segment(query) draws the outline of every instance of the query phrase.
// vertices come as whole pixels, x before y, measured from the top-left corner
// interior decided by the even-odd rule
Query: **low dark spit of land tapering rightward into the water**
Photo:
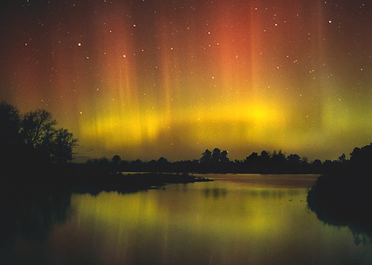
[[[88,166],[53,166],[29,168],[4,174],[1,193],[61,192],[97,194],[101,191],[135,192],[157,189],[166,184],[187,184],[212,181],[205,177],[181,173],[132,173],[95,171]]]

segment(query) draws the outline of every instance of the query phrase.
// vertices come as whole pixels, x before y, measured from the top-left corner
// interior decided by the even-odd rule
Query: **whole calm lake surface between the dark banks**
[[[359,243],[362,235],[326,225],[307,209],[306,188],[317,176],[207,177],[214,182],[130,194],[72,194],[55,205],[57,210],[49,209],[48,218],[41,213],[30,220],[48,219],[47,229],[38,226],[29,236],[18,228],[20,236],[9,240],[2,259],[14,264],[372,264],[370,238]]]

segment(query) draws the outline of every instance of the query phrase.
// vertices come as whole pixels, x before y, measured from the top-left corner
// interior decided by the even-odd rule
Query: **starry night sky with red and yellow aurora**
[[[76,157],[336,159],[372,141],[372,3],[0,4],[0,100],[44,108]]]

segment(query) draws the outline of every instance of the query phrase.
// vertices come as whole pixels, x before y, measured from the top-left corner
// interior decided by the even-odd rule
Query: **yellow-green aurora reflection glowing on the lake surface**
[[[76,194],[71,198],[76,217],[69,226],[81,229],[55,233],[73,233],[85,245],[81,251],[93,247],[105,264],[347,264],[368,259],[371,252],[355,249],[347,229],[317,222],[306,210],[305,195],[305,189],[221,188],[218,182],[128,195]]]

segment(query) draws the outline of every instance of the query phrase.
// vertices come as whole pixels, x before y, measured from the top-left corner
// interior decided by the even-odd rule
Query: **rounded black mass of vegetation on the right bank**
[[[308,207],[318,219],[372,237],[371,158],[372,144],[356,147],[339,170],[317,179],[308,191]]]

